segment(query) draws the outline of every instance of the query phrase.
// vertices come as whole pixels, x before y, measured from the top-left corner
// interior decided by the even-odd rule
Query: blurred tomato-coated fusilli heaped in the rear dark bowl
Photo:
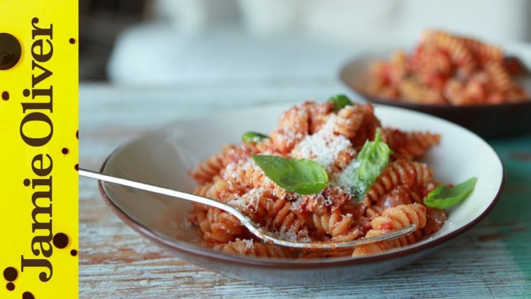
[[[366,91],[388,99],[432,105],[480,105],[529,99],[511,78],[501,48],[426,31],[412,54],[395,51],[374,61]]]

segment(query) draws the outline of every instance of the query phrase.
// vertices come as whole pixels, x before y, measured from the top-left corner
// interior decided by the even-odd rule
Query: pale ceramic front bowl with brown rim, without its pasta
[[[287,104],[253,106],[175,122],[119,147],[101,171],[191,191],[196,184],[187,176],[189,168],[217,152],[221,145],[239,142],[242,132],[269,132],[287,108]],[[400,108],[377,106],[375,113],[385,126],[442,133],[441,144],[424,157],[435,169],[438,180],[456,183],[478,177],[471,196],[450,211],[441,230],[414,245],[358,258],[235,256],[196,245],[201,235],[197,227],[186,221],[191,204],[185,200],[100,182],[101,194],[110,208],[140,235],[180,258],[228,277],[261,284],[317,286],[378,275],[412,263],[477,224],[500,196],[504,171],[497,154],[485,141],[456,124]]]

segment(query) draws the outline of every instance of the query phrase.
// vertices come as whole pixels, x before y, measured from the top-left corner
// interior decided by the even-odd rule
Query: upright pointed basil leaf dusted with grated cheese
[[[374,141],[367,141],[363,148],[356,156],[358,168],[354,170],[354,194],[361,200],[365,197],[365,194],[370,190],[372,184],[384,171],[389,163],[389,156],[392,151],[381,141],[380,129],[377,129]]]

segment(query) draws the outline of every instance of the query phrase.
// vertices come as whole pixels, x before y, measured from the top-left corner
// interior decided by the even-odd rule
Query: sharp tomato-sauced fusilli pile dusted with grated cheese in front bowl
[[[403,55],[394,59],[395,64],[407,63]],[[374,139],[377,129],[394,154],[365,198],[356,198],[349,187],[356,156],[365,142]],[[284,112],[269,138],[227,145],[189,175],[198,182],[194,194],[231,205],[286,240],[343,242],[417,225],[418,229],[404,238],[354,250],[355,256],[371,254],[417,242],[444,224],[444,212],[426,210],[423,205],[423,197],[436,184],[433,170],[416,161],[439,139],[430,132],[381,128],[372,105],[353,103],[335,110],[335,103],[305,102]],[[254,162],[253,154],[310,159],[325,168],[328,186],[309,195],[288,191],[270,180]],[[353,254],[353,249],[295,250],[265,244],[228,212],[201,204],[193,207],[189,221],[198,227],[201,245],[228,254],[268,258]]]

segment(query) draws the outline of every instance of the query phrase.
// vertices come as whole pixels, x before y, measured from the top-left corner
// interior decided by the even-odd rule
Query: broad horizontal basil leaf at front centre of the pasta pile
[[[328,184],[323,166],[309,159],[286,159],[282,156],[253,156],[263,173],[280,187],[297,194],[317,194]]]

